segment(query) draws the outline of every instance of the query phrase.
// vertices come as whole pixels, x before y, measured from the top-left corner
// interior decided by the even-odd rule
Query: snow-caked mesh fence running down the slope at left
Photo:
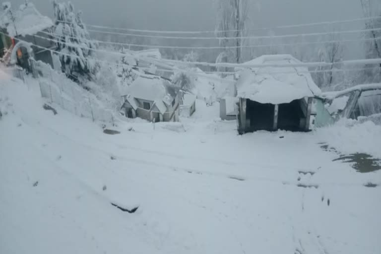
[[[114,123],[113,112],[105,109],[94,94],[68,79],[64,73],[41,61],[31,60],[31,66],[33,76],[39,78],[42,97],[77,116]]]

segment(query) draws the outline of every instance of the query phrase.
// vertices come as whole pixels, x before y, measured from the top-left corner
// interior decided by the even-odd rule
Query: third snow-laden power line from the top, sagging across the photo
[[[76,37],[71,36],[62,36],[56,35],[53,33],[48,33],[42,31],[42,33],[56,37],[56,38],[71,38],[77,39]],[[45,38],[45,37],[44,37]],[[148,49],[184,49],[184,50],[225,50],[225,49],[254,49],[254,48],[266,48],[266,47],[286,47],[286,46],[296,46],[296,45],[315,45],[315,44],[326,44],[326,43],[343,43],[343,42],[362,42],[362,41],[373,41],[375,39],[381,39],[381,37],[376,38],[359,38],[359,39],[347,39],[347,40],[327,40],[327,41],[318,41],[318,42],[296,42],[296,43],[281,43],[281,44],[257,44],[257,45],[240,45],[240,46],[163,46],[163,45],[146,45],[146,44],[133,44],[133,43],[121,43],[121,42],[107,42],[101,40],[88,40],[97,42],[100,44],[109,44],[109,45],[119,45],[119,46],[127,46],[127,47],[136,47],[136,48],[148,48]]]

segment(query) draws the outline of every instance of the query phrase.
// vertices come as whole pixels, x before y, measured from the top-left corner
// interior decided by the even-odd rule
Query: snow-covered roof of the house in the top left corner
[[[11,37],[16,36],[16,31],[17,35],[25,36],[27,34],[36,34],[53,26],[53,21],[49,17],[41,15],[31,2],[21,4],[20,8],[13,13],[13,17],[15,19],[14,23],[5,11],[2,13],[0,20],[0,26],[6,28]]]

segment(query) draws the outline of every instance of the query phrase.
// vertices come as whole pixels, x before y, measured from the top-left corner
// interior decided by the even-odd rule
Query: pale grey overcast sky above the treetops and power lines
[[[23,1],[11,0],[15,4]],[[30,1],[35,3],[42,14],[53,16],[51,0]],[[213,30],[215,26],[214,0],[71,0],[71,2],[77,10],[83,11],[83,20],[88,24],[185,31]],[[251,27],[274,27],[363,16],[360,0],[249,0],[249,4]],[[359,21],[347,24],[342,29],[362,27],[364,24]],[[310,27],[308,32],[319,29],[322,27]],[[284,33],[292,32],[295,31]],[[348,46],[353,48],[353,45]],[[359,49],[349,50],[349,58],[354,57],[356,51],[359,52]]]

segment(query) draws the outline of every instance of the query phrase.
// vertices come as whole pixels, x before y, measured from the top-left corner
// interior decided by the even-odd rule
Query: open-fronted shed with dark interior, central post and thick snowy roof
[[[313,98],[321,91],[307,67],[290,55],[261,56],[244,65],[253,67],[237,69],[239,133],[308,131]]]

